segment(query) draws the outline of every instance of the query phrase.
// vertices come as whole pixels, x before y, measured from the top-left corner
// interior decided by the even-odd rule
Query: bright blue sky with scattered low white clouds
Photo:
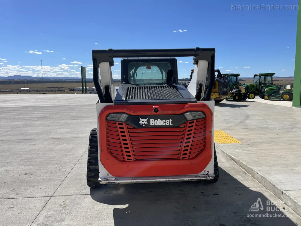
[[[44,76],[80,77],[85,66],[92,77],[92,49],[194,47],[216,48],[222,72],[293,76],[297,10],[231,10],[231,4],[298,1],[1,1],[0,76],[41,76],[42,59]],[[120,59],[114,61],[118,78]],[[178,61],[179,77],[189,77],[192,58]]]

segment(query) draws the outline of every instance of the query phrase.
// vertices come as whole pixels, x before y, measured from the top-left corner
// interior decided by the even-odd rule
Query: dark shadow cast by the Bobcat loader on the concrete
[[[121,184],[91,189],[90,195],[96,202],[116,205],[113,209],[115,226],[296,225],[287,217],[248,217],[247,214],[283,215],[283,212],[279,209],[278,212],[267,212],[266,203],[269,199],[260,192],[262,187],[252,190],[222,168],[219,168],[219,172],[220,178],[216,184]],[[251,205],[258,202],[258,198],[261,199],[263,210],[250,212]]]

